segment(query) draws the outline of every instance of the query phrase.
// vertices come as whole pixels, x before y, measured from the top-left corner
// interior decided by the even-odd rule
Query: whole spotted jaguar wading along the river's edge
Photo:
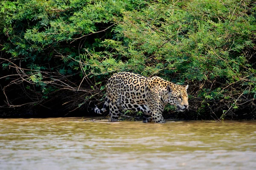
[[[102,114],[109,110],[109,122],[118,121],[122,110],[142,111],[143,122],[165,123],[162,116],[166,104],[177,106],[177,111],[189,107],[186,90],[160,77],[144,77],[139,74],[122,72],[114,74],[107,82],[105,104],[100,110],[95,106],[95,113]]]

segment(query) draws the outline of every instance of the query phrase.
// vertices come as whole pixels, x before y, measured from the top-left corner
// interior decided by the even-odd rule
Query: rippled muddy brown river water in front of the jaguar
[[[255,169],[256,121],[0,119],[0,169]]]

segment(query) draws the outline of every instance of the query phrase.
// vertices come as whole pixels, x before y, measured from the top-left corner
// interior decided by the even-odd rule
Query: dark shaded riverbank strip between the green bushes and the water
[[[73,112],[61,111],[61,109],[48,109],[41,107],[17,107],[17,108],[1,108],[0,109],[0,118],[54,118],[54,117],[92,117],[97,118],[100,116],[105,116],[107,119],[108,113],[105,115],[97,115],[92,111],[88,111],[88,108],[84,110],[77,110]],[[167,120],[213,120],[213,121],[222,121],[222,120],[254,120],[256,119],[256,113],[244,113],[239,116],[230,116],[225,115],[221,117],[221,114],[197,114],[193,111],[186,112],[175,112],[175,111],[164,111],[163,117]],[[121,120],[125,121],[142,121],[143,115],[137,114],[136,112],[125,113],[124,116],[120,116]]]

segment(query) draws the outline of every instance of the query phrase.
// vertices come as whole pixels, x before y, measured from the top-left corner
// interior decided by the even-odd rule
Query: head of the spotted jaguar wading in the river
[[[171,105],[177,106],[177,111],[186,111],[189,108],[188,94],[186,90],[189,88],[189,85],[185,87],[182,85],[167,85],[168,91],[168,102]]]

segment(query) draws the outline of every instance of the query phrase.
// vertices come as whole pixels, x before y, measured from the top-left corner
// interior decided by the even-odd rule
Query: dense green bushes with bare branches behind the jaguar
[[[88,101],[102,101],[112,74],[133,71],[190,85],[190,111],[173,112],[177,117],[256,116],[254,0],[4,0],[0,6],[2,107],[86,110]]]

